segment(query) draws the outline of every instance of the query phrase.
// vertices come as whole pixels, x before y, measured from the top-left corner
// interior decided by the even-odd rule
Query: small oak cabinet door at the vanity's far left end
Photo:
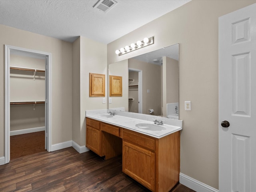
[[[101,156],[100,154],[100,130],[86,126],[86,147]]]

